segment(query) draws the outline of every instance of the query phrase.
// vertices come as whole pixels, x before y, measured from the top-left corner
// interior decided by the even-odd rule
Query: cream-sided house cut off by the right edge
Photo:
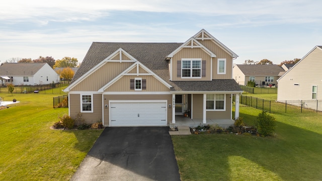
[[[277,101],[322,100],[322,46],[314,47],[278,81]]]

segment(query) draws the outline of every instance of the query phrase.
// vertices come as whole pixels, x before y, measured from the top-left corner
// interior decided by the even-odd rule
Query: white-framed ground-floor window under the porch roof
[[[207,110],[225,110],[225,95],[224,94],[207,94],[206,96]]]

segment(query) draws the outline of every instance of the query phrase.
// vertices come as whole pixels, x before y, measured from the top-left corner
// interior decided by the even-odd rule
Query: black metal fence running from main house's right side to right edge
[[[233,96],[235,101],[235,96]],[[314,113],[322,112],[322,100],[268,101],[250,96],[239,97],[239,104],[269,113]]]

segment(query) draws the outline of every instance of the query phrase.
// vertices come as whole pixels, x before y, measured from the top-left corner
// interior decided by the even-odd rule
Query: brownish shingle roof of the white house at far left
[[[4,63],[0,66],[0,75],[32,76],[46,63]]]

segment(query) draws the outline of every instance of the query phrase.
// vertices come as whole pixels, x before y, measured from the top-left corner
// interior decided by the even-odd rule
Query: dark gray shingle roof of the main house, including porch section
[[[241,91],[233,79],[213,81],[170,81],[167,55],[182,43],[104,43],[93,42],[72,82],[122,48],[173,86],[171,91]]]

